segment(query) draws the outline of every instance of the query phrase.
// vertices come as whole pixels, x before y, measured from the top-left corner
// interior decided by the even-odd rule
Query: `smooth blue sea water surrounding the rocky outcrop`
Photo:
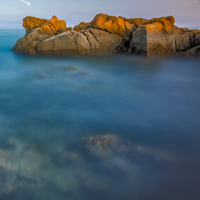
[[[200,199],[199,59],[19,55],[23,35],[0,30],[0,200]]]

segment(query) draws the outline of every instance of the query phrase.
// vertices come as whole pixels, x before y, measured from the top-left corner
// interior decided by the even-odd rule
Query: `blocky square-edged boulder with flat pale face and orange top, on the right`
[[[176,53],[173,17],[147,20],[133,32],[130,52],[147,56]]]

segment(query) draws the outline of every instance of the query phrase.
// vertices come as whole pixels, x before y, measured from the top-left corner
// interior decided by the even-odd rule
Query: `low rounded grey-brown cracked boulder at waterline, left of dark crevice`
[[[107,55],[116,53],[122,38],[102,30],[74,30],[44,40],[37,46],[43,55]]]

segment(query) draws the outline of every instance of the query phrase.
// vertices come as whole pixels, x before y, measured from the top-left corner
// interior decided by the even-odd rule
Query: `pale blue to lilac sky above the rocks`
[[[200,27],[199,10],[200,0],[0,0],[0,29],[21,29],[26,16],[53,15],[73,27],[98,13],[145,19],[172,15],[179,27]]]

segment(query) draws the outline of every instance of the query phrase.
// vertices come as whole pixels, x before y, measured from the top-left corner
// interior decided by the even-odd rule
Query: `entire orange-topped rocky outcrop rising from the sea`
[[[200,30],[178,28],[174,23],[172,16],[146,20],[98,14],[91,22],[81,22],[72,28],[56,16],[50,20],[26,17],[23,19],[26,35],[16,42],[13,50],[62,56],[199,55]]]

